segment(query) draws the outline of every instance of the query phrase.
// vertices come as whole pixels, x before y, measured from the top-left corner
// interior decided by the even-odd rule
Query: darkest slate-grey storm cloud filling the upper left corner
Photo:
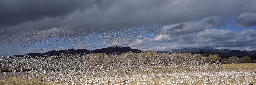
[[[84,0],[1,0],[0,25],[15,26],[43,17],[65,16],[81,7],[82,1]]]

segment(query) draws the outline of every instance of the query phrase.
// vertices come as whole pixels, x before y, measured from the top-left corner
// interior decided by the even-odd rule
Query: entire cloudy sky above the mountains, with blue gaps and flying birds
[[[0,56],[129,46],[256,50],[255,0],[1,0]]]

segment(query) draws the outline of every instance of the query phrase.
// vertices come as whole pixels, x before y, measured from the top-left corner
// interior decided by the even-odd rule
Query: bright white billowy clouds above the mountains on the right
[[[180,37],[180,40],[143,40],[143,44],[134,46],[135,49],[145,50],[171,50],[182,48],[212,47],[216,49],[239,49],[239,50],[256,50],[256,34],[244,34],[244,32],[255,30],[244,30],[242,32],[233,32],[230,30],[205,29],[197,33],[189,34],[190,36]],[[188,35],[188,34],[186,34]],[[250,36],[248,36],[250,35]],[[157,37],[155,37],[157,38]],[[155,39],[152,38],[152,39]],[[187,40],[189,38],[189,40]],[[160,38],[159,38],[160,39]],[[134,45],[136,42],[129,45]]]

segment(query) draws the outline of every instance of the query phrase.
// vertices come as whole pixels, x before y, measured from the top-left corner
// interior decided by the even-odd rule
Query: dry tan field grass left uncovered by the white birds
[[[241,66],[241,70],[240,71],[254,71],[256,70],[256,66],[252,66],[252,65],[256,65],[255,63],[253,64],[250,64],[250,63],[243,63],[243,64],[222,64],[223,67],[227,67],[227,70],[226,69],[222,69],[223,71],[236,71],[236,70],[239,70],[238,68]],[[251,67],[252,66],[252,67]],[[235,68],[234,68],[235,67]],[[162,67],[161,69],[165,69],[165,67]],[[170,72],[172,73],[172,72]],[[195,72],[196,73],[196,72]],[[1,73],[2,74],[2,73]],[[143,76],[143,75],[155,75],[155,74],[158,74],[158,75],[162,75],[162,73],[143,73],[143,74],[134,74],[134,75],[140,75],[140,76]],[[163,73],[163,74],[166,74],[166,73]],[[168,74],[168,73],[167,73]],[[9,77],[9,78],[2,78],[0,79],[0,84],[1,85],[53,85],[53,84],[65,84],[66,82],[62,82],[62,83],[50,83],[49,81],[41,81],[41,77],[44,77],[43,75],[41,76],[38,76],[38,77],[35,77],[33,78],[31,81],[29,81],[28,79],[24,79],[24,78],[21,78],[22,75],[20,75],[20,77]],[[199,79],[199,78],[195,78],[195,79]],[[218,79],[216,77],[216,79]],[[225,78],[226,80],[228,80],[228,78]],[[140,79],[141,81],[143,81],[143,78]],[[174,80],[174,79],[173,79]],[[168,81],[168,77],[163,80],[162,78],[154,78],[154,79],[150,79],[150,80],[147,80],[147,82],[155,82],[154,85],[162,85],[161,82],[167,82]],[[245,80],[240,80],[240,82],[242,83],[243,81]],[[122,84],[122,81],[115,81],[116,84]],[[159,83],[160,82],[160,83]],[[230,82],[230,84],[234,84],[236,82]],[[110,85],[110,83],[108,83]],[[136,82],[131,82],[129,83],[129,85],[135,85],[137,84]],[[151,84],[151,83],[150,83]],[[198,85],[198,84],[204,84],[203,81],[198,81],[196,83],[193,83],[192,85]],[[211,85],[211,83],[208,83],[209,85]],[[256,83],[252,83],[252,84],[256,84]]]

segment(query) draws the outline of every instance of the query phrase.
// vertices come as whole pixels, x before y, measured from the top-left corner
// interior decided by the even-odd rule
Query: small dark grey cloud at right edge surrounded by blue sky
[[[236,20],[237,27],[256,26],[256,13],[242,13]]]

